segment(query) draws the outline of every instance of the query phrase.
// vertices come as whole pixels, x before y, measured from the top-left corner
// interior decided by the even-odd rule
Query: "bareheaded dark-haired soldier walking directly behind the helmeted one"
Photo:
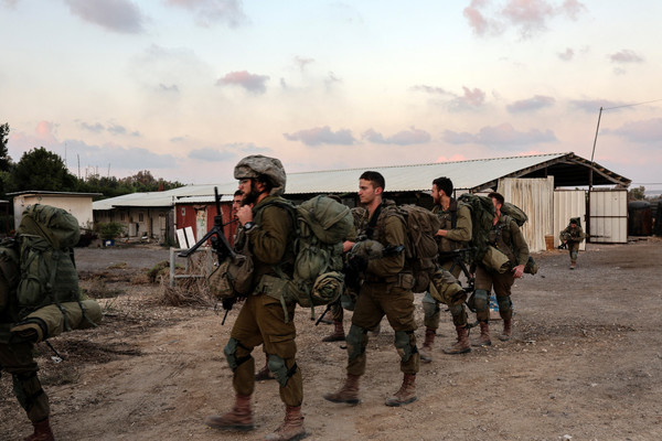
[[[414,277],[407,267],[404,252],[367,259],[365,255],[375,248],[404,246],[406,240],[405,224],[401,217],[389,215],[393,202],[382,200],[384,176],[378,172],[364,172],[359,180],[359,198],[367,209],[367,228],[364,233],[367,240],[357,244],[345,244],[352,247],[350,265],[363,272],[363,284],[352,315],[352,325],[346,336],[348,367],[344,385],[335,392],[325,394],[324,398],[332,402],[355,405],[359,399],[359,378],[365,374],[367,331],[374,329],[384,315],[395,331],[395,347],[401,356],[403,384],[394,396],[386,400],[386,406],[402,406],[416,400],[416,373],[418,373],[419,355],[416,348],[416,321],[414,320]],[[370,250],[362,254],[362,248]]]

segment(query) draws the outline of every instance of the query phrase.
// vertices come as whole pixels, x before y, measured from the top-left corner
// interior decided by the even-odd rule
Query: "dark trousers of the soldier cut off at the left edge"
[[[51,413],[49,397],[43,391],[36,373],[39,367],[29,342],[0,343],[0,370],[11,374],[13,391],[32,422],[39,422]]]

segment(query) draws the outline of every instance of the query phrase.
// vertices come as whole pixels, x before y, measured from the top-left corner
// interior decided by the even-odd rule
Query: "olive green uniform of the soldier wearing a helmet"
[[[282,201],[267,196],[253,207],[255,225],[243,229],[237,241],[246,240],[253,255],[255,290],[242,305],[224,353],[233,369],[233,387],[238,395],[249,396],[255,388],[255,361],[250,353],[264,344],[269,370],[280,385],[280,399],[297,407],[303,399],[301,370],[295,356],[297,334],[295,303],[287,305],[287,318],[278,300],[284,279],[292,276],[295,237],[293,218],[288,208],[273,204]],[[241,246],[241,245],[239,245]]]

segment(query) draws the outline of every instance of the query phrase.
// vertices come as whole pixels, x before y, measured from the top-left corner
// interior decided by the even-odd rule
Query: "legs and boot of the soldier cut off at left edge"
[[[35,338],[12,335],[10,343],[10,333],[7,326],[10,322],[11,320],[7,314],[0,313],[0,372],[4,370],[11,374],[14,394],[34,427],[34,433],[25,440],[54,440],[49,422],[51,413],[49,397],[42,389],[36,376],[39,367],[32,356],[34,348],[32,342]]]

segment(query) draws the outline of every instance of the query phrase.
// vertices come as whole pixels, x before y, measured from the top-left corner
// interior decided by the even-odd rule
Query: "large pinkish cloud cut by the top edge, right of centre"
[[[469,26],[479,36],[500,35],[509,26],[523,39],[547,31],[548,22],[556,17],[577,20],[586,7],[577,0],[553,3],[546,0],[508,0],[493,8],[487,0],[472,0],[463,10]]]

